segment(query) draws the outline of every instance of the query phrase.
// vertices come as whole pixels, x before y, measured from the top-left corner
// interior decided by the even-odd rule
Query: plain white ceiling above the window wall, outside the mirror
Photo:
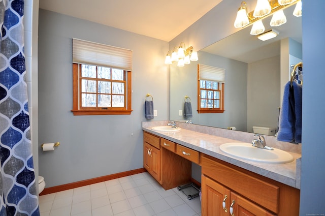
[[[40,0],[40,8],[171,41],[222,0]]]

